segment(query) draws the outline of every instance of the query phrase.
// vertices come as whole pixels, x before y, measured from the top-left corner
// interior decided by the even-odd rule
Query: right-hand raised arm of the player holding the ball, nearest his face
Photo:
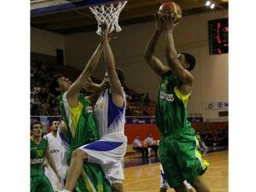
[[[192,89],[194,78],[192,74],[187,69],[185,69],[177,59],[177,51],[175,49],[172,35],[175,25],[170,22],[166,25],[166,60],[168,66],[171,67],[173,73],[177,74],[177,78],[180,81],[180,84],[178,84],[177,87],[178,90],[180,90],[183,94],[189,94]]]

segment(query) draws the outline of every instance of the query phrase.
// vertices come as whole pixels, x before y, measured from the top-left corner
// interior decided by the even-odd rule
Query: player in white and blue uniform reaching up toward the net
[[[108,84],[108,86],[100,93],[94,108],[96,126],[101,138],[73,151],[65,189],[73,189],[74,183],[81,174],[81,165],[85,161],[100,164],[105,176],[112,184],[113,192],[123,192],[122,158],[127,147],[127,137],[124,133],[126,102],[125,92],[122,88],[124,73],[115,67],[113,52],[109,45],[108,30],[107,26],[102,34],[104,62],[107,67],[102,84]],[[99,85],[92,82],[87,84],[88,90],[97,87]]]

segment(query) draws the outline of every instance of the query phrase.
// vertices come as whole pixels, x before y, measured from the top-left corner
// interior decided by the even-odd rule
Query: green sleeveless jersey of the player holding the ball
[[[177,76],[171,71],[164,74],[160,81],[155,120],[162,136],[170,136],[191,127],[186,103],[182,96],[177,96],[177,82]]]

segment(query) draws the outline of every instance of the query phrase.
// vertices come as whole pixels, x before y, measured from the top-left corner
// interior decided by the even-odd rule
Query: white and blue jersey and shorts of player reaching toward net
[[[125,92],[124,102],[125,102]],[[110,183],[122,183],[125,179],[122,160],[126,153],[125,106],[113,104],[111,90],[103,90],[96,102],[94,116],[101,139],[80,147],[88,155],[88,162],[102,166]]]

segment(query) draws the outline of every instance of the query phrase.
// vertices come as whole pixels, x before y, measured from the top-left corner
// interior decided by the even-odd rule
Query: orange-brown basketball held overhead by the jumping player
[[[179,5],[174,2],[167,2],[161,4],[158,12],[161,14],[173,14],[172,20],[174,23],[177,23],[182,18],[182,9],[180,9]]]

